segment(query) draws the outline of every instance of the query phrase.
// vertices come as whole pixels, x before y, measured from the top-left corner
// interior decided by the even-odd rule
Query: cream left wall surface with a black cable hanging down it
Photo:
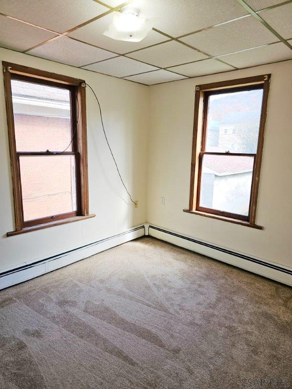
[[[105,143],[97,103],[87,88],[89,211],[96,217],[27,234],[14,230],[10,157],[0,80],[0,271],[115,235],[146,221],[149,88],[130,81],[0,49],[0,60],[86,80],[99,98],[105,130],[138,208],[130,204]],[[130,205],[126,204],[127,201]]]

